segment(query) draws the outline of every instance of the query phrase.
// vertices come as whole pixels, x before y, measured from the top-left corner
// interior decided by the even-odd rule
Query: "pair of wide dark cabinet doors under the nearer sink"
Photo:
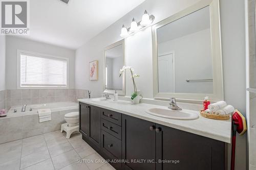
[[[124,169],[225,169],[224,142],[127,115],[122,128]]]

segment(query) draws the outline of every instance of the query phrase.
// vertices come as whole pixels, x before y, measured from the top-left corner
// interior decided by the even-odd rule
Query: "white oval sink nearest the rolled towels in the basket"
[[[158,116],[158,117],[164,117],[164,118],[170,118],[170,119],[179,119],[179,120],[193,120],[199,118],[198,114],[195,111],[190,110],[172,110],[172,109],[164,109],[164,108],[152,108],[146,110],[146,113]]]

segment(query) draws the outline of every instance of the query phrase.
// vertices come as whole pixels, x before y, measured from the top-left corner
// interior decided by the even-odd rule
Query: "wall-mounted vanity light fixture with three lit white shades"
[[[143,28],[150,26],[153,23],[154,19],[155,16],[148,15],[147,11],[145,10],[141,21],[136,22],[136,20],[133,18],[130,28],[125,28],[124,25],[122,26],[120,36],[125,38],[132,34],[135,34],[139,30],[142,30]]]

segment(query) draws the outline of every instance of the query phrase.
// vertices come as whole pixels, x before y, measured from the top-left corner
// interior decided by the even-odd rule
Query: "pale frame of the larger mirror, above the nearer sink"
[[[207,6],[209,6],[209,9],[210,9],[211,57],[212,57],[212,69],[213,69],[212,78],[214,79],[213,81],[214,93],[204,94],[204,93],[161,93],[159,92],[157,29]],[[154,86],[153,91],[154,91],[155,99],[176,98],[182,101],[203,101],[205,96],[209,96],[209,99],[211,101],[224,100],[219,0],[202,0],[195,5],[156,23],[154,26],[152,26],[152,45],[153,45],[152,48],[153,48],[153,86]]]

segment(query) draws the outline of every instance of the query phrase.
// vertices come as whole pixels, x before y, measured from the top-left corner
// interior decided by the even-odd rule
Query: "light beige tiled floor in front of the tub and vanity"
[[[80,134],[70,139],[65,135],[55,131],[0,144],[0,169],[115,170]],[[96,163],[99,160],[100,163]]]

